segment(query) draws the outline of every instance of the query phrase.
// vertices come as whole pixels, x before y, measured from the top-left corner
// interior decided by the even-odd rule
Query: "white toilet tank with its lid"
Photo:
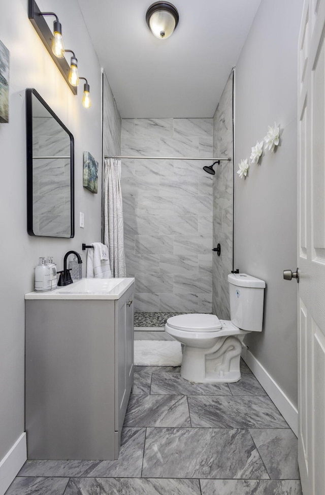
[[[264,280],[246,273],[228,275],[230,318],[242,330],[262,332],[264,308]]]

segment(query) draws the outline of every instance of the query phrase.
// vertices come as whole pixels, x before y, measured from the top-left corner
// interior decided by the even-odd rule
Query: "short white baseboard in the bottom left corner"
[[[4,495],[27,459],[26,434],[22,433],[0,460],[0,495]]]

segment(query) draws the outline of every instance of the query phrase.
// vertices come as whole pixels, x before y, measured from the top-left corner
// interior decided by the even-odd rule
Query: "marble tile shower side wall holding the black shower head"
[[[213,117],[213,156],[231,157],[215,167],[213,181],[213,245],[221,245],[221,255],[213,254],[212,311],[230,319],[227,276],[233,269],[233,74],[230,75]]]

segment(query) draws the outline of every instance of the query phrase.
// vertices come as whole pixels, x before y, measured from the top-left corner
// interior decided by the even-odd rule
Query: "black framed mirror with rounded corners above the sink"
[[[26,89],[27,232],[74,237],[74,138],[38,94]]]

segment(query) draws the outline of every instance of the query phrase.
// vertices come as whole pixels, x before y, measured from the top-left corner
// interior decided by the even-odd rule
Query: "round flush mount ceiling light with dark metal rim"
[[[178,24],[176,7],[169,2],[155,2],[146,13],[146,22],[151,33],[160,40],[169,38]]]

